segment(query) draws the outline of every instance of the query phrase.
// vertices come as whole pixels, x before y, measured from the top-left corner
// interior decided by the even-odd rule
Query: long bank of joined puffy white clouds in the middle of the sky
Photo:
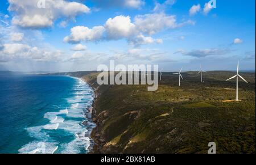
[[[81,41],[119,40],[126,39],[133,45],[163,43],[161,39],[153,39],[151,35],[168,28],[179,28],[186,24],[195,24],[191,20],[177,23],[174,15],[146,14],[135,17],[134,22],[130,16],[115,16],[109,18],[104,26],[88,28],[84,26],[73,27],[71,35],[64,37],[68,43]],[[146,36],[149,35],[149,36]]]

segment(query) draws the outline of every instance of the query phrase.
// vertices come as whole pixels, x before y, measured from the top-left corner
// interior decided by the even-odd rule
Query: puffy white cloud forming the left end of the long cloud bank
[[[105,28],[96,26],[92,29],[84,26],[76,26],[71,29],[71,35],[64,38],[65,42],[79,43],[80,41],[98,41],[102,39]]]

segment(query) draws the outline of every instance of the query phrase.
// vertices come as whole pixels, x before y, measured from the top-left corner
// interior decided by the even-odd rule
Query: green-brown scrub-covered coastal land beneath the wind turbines
[[[80,75],[82,77],[83,74]],[[241,73],[249,84],[226,82],[234,73],[210,71],[200,75],[163,73],[157,91],[145,85],[103,85],[97,73],[83,78],[97,88],[93,138],[95,153],[255,153],[255,73]]]

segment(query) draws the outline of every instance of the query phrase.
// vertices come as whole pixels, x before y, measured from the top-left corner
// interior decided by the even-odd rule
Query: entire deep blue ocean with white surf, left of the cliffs
[[[57,75],[0,75],[0,153],[88,153],[93,90]]]

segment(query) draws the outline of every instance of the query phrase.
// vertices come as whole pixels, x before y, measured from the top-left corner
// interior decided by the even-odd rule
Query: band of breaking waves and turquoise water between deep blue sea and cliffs
[[[86,109],[92,106],[93,90],[82,79],[74,79],[72,94],[63,98],[67,107],[60,109],[63,105],[56,103],[52,112],[44,114],[43,124],[26,128],[34,140],[22,146],[19,153],[88,153],[95,125]]]

